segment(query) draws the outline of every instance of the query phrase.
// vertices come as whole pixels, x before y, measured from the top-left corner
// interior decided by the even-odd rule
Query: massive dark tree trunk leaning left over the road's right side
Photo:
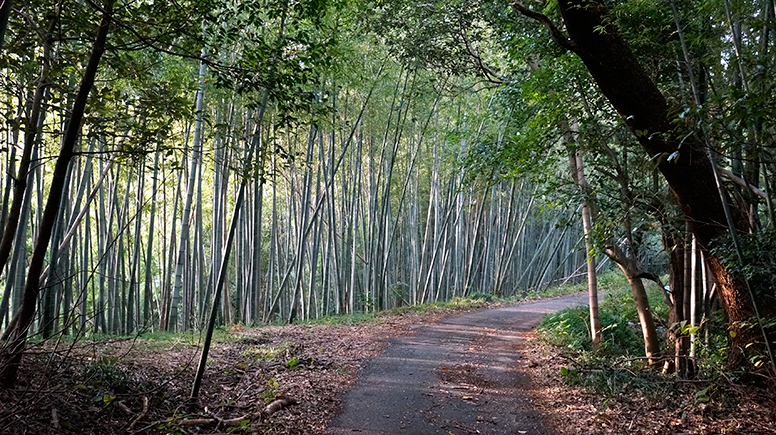
[[[717,190],[714,170],[704,145],[687,131],[677,131],[671,109],[655,83],[641,68],[612,24],[606,7],[598,1],[559,0],[566,38],[546,17],[520,4],[523,14],[538,19],[548,27],[553,38],[584,62],[601,92],[624,118],[648,157],[658,163],[677,203],[682,208],[693,234],[704,252],[711,241],[727,233],[722,200]],[[733,220],[739,230],[747,228],[740,210],[734,209]],[[741,324],[755,316],[752,299],[745,282],[728,272],[719,258],[708,256],[711,272],[728,316],[730,337],[729,364],[738,365],[741,350],[747,343],[762,339],[760,331]],[[763,307],[774,314],[776,307]]]

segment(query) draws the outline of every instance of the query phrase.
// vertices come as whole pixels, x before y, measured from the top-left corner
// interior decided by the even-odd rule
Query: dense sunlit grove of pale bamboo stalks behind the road
[[[81,13],[93,12],[86,5]],[[280,32],[284,19],[263,30]],[[36,58],[44,65],[78,54],[68,40],[50,44],[52,53]],[[131,57],[111,60],[129,71],[105,64],[92,90],[41,274],[35,333],[200,328],[225,249],[232,258],[222,324],[512,295],[579,276],[581,229],[568,224],[577,207],[542,211],[530,181],[467,181],[468,142],[504,130],[486,116],[493,93],[451,92],[447,85],[460,79],[403,67],[360,44],[345,47],[349,69],[315,71],[321,77],[307,97],[317,100],[304,109],[278,102],[282,94],[266,87],[277,83],[259,91],[224,85],[234,74],[224,66],[234,64],[228,53],[213,62],[217,71],[152,50],[107,53]],[[202,59],[214,57],[205,52]],[[14,121],[29,119],[24,102],[39,77],[5,71],[4,86],[14,90],[5,95],[2,132],[6,217],[19,154],[32,148],[3,274],[8,325],[22,305],[78,71],[50,74],[33,144],[28,126]],[[243,212],[226,246],[241,185]]]

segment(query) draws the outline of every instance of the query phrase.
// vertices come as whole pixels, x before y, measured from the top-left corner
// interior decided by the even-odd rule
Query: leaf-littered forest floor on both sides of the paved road
[[[346,392],[360,375],[367,379],[370,361],[386,346],[395,347],[433,325],[456,324],[471,314],[487,316],[482,310],[490,308],[499,307],[394,311],[357,324],[232,328],[219,335],[211,350],[196,409],[187,401],[200,352],[196,337],[33,346],[19,385],[0,390],[0,433],[346,433],[341,420],[335,420],[337,426],[332,419],[342,412],[351,394]],[[611,391],[601,393],[600,386],[591,389],[561,376],[561,367],[571,363],[562,349],[543,344],[534,332],[513,333],[519,339],[508,344],[515,355],[509,364],[520,379],[518,387],[529,396],[515,406],[538,416],[537,426],[514,433],[776,434],[776,401],[762,389],[670,379],[649,389],[636,381],[617,384],[619,378],[612,375],[604,379]],[[475,339],[466,349],[472,350],[482,353],[488,347]],[[484,366],[476,358],[441,364],[434,371],[437,391],[428,394],[442,405],[478,408],[506,391],[483,380]],[[414,382],[412,376],[403,379]],[[515,412],[503,409],[508,402],[499,403],[502,408],[473,412],[478,422],[473,425],[439,413],[426,422],[446,434],[500,433],[499,420],[485,413]]]

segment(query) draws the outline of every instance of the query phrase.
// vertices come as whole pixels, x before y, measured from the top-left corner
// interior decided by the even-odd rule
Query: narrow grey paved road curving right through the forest
[[[586,303],[580,294],[418,326],[367,364],[329,433],[552,434],[531,404],[520,344],[543,315]]]

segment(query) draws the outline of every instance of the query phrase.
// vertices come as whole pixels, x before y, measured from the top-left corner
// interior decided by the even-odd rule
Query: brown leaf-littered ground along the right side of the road
[[[666,379],[654,390],[625,383],[600,394],[584,382],[571,386],[561,375],[569,361],[536,333],[524,352],[534,403],[558,434],[776,434],[776,401],[761,388],[715,384],[714,397],[701,398],[709,383]]]

